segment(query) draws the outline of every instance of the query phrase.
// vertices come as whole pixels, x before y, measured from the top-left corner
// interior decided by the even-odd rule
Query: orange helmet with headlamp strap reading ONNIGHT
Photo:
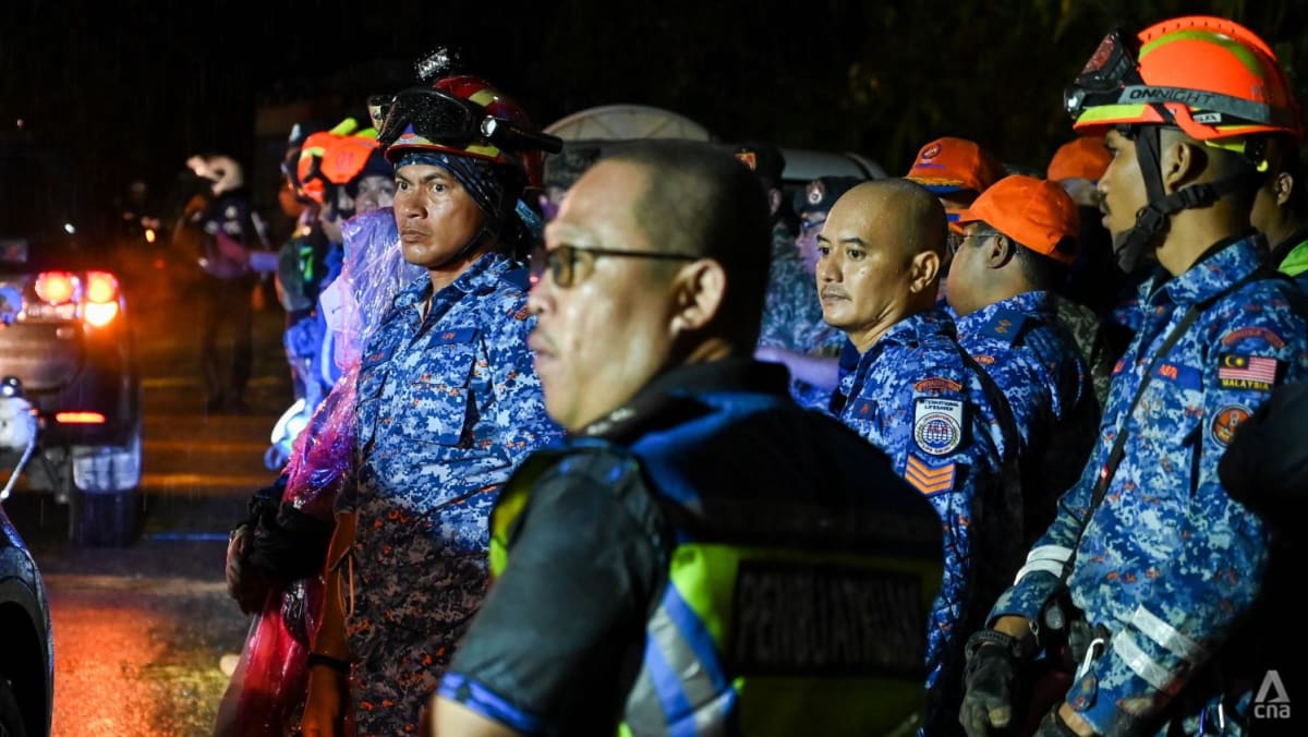
[[[1163,21],[1137,38],[1109,33],[1065,105],[1088,135],[1125,124],[1176,126],[1201,141],[1303,134],[1271,48],[1240,24],[1207,16]]]

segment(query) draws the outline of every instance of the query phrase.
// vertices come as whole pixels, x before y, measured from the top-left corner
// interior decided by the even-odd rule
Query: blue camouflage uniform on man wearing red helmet
[[[561,437],[527,350],[526,271],[488,254],[420,319],[400,292],[358,374],[352,696],[361,734],[416,729],[487,589],[488,517],[526,454]]]

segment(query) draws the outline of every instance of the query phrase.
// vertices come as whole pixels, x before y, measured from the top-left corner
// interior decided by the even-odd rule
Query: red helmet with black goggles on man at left
[[[528,186],[540,187],[542,153],[562,149],[560,139],[536,131],[517,102],[471,75],[443,77],[391,98],[374,97],[369,111],[392,164],[408,151],[438,151],[518,166]]]

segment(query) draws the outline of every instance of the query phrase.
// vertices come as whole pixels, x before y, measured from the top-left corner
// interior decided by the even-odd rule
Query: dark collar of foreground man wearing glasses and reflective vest
[[[696,394],[712,391],[752,391],[786,397],[789,374],[780,364],[753,359],[725,359],[671,368],[646,384],[630,401],[608,415],[586,425],[578,436],[629,440],[655,420],[678,419],[679,408],[698,412],[697,403],[687,402]],[[661,424],[663,424],[661,422]]]

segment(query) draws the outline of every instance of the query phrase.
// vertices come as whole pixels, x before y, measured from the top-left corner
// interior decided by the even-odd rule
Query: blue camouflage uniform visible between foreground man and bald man
[[[764,295],[759,347],[786,348],[811,356],[836,357],[845,334],[821,317],[816,279],[807,272],[795,249],[795,234],[778,225],[772,230],[772,264]],[[824,407],[831,391],[791,380],[790,395],[802,407]]]

